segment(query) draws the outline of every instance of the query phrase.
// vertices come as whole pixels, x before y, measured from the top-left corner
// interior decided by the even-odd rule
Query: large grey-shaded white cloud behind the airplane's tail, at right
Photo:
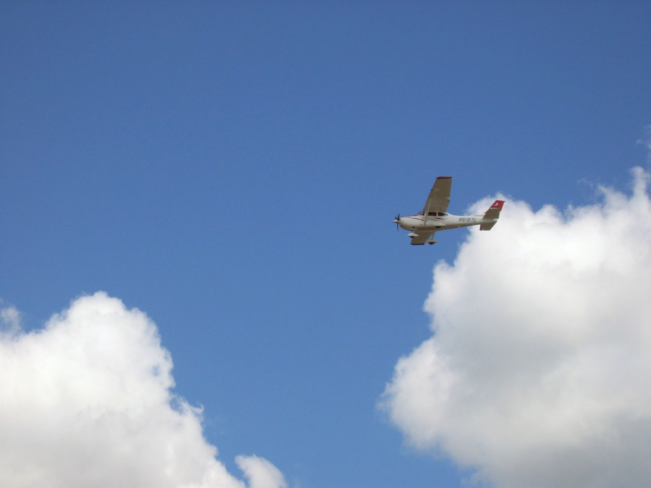
[[[433,335],[381,400],[411,444],[480,485],[648,483],[650,175],[632,174],[630,195],[601,188],[564,212],[508,200],[493,230],[473,228],[436,265]]]

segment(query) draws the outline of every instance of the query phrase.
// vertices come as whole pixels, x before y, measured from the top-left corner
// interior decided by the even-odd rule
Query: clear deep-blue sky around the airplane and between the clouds
[[[461,486],[376,403],[466,231],[391,221],[439,175],[463,213],[648,168],[646,2],[0,8],[0,297],[27,330],[97,290],[145,311],[229,470]]]

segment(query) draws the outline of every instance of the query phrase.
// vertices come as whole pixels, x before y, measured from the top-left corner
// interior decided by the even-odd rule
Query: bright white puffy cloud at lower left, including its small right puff
[[[245,488],[202,435],[201,409],[171,392],[156,325],[106,293],[25,333],[0,314],[0,486]],[[260,457],[238,457],[250,488],[284,488]]]

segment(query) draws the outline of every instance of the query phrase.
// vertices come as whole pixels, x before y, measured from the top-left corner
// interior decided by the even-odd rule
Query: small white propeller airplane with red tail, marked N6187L
[[[502,210],[504,200],[495,200],[495,203],[480,215],[450,215],[445,213],[450,203],[450,187],[452,176],[439,176],[434,182],[432,191],[425,202],[425,208],[416,215],[409,217],[396,217],[393,221],[397,226],[409,230],[411,244],[422,245],[424,243],[434,244],[434,234],[439,230],[456,229],[478,225],[479,230],[491,230],[497,219],[499,211]]]

